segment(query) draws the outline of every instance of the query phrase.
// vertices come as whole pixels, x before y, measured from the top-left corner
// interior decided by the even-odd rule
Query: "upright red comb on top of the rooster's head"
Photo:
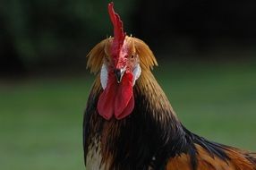
[[[120,51],[120,48],[124,44],[125,34],[123,29],[123,21],[121,21],[119,15],[115,13],[113,2],[108,4],[108,13],[114,27],[114,41],[112,52],[115,53],[115,55],[117,55]]]

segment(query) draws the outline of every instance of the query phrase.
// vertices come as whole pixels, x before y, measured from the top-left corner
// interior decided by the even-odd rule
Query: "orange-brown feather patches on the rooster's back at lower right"
[[[203,149],[200,145],[195,144],[197,154],[196,158],[198,160],[197,169],[199,170],[255,170],[256,165],[248,159],[248,154],[246,151],[240,149],[235,149],[231,147],[224,148],[229,160],[223,160],[220,157],[212,157],[206,149]],[[251,155],[255,158],[255,155]],[[188,155],[182,154],[170,158],[167,162],[167,170],[192,170],[192,165],[190,164],[190,157]]]

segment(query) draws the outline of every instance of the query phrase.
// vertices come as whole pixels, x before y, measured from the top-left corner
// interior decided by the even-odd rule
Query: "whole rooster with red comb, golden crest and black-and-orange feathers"
[[[126,36],[108,4],[114,38],[88,55],[97,73],[83,121],[87,170],[256,170],[256,154],[212,142],[178,120],[151,70],[149,47]]]

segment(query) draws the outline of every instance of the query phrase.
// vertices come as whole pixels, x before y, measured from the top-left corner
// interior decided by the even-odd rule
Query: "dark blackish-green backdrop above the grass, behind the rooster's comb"
[[[128,35],[143,39],[168,61],[252,61],[256,1],[115,2]],[[0,72],[80,72],[85,56],[112,35],[107,1],[0,2]]]

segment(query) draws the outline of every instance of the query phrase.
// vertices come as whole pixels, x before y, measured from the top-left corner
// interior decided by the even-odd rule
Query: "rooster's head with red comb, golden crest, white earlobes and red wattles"
[[[99,72],[103,91],[98,98],[98,114],[109,120],[120,120],[131,115],[134,108],[133,86],[141,70],[157,64],[149,47],[140,39],[126,36],[123,22],[108,4],[108,13],[114,27],[114,38],[107,38],[91,51],[88,66]],[[148,58],[147,58],[148,57]]]

